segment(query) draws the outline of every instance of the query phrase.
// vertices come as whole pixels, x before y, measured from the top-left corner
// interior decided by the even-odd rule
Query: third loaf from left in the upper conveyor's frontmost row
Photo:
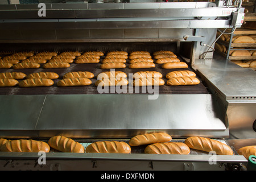
[[[86,86],[92,84],[89,78],[63,78],[57,86]]]

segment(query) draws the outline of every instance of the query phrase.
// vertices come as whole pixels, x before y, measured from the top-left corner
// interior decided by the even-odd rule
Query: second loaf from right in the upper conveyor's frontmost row
[[[162,86],[164,85],[164,80],[158,77],[142,77],[134,79],[134,86]]]

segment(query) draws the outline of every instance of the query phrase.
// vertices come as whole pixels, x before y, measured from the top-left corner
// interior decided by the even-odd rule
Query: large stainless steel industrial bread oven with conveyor
[[[44,5],[44,6],[43,6]],[[218,28],[240,27],[235,14],[241,2],[84,2],[0,6],[0,52],[20,51],[160,51],[171,50],[196,73],[199,85],[159,86],[149,90],[94,85],[60,88],[0,88],[0,137],[47,141],[55,135],[86,147],[96,140],[127,142],[137,134],[164,131],[174,141],[201,136],[233,148],[232,156],[212,156],[191,150],[189,155],[73,154],[49,152],[46,164],[38,154],[1,152],[1,170],[242,170],[245,157],[237,147],[255,144],[255,71],[213,57]],[[235,23],[234,23],[235,22]],[[206,53],[206,54],[205,54]],[[203,56],[203,59],[202,59]],[[100,64],[69,68],[23,69],[57,73],[89,71]],[[128,65],[128,64],[127,64]],[[128,66],[127,75],[144,69]],[[156,64],[148,71],[164,70]],[[10,69],[9,69],[10,71]],[[0,72],[7,72],[1,69]],[[165,79],[165,78],[164,78]],[[167,80],[165,80],[167,81]],[[152,91],[152,90],[151,90]],[[241,142],[243,141],[243,142]],[[214,162],[214,164],[212,163]]]

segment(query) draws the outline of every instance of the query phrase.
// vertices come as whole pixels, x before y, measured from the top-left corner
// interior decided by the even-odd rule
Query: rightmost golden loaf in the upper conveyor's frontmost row
[[[198,85],[200,80],[196,77],[175,77],[167,80],[167,85],[177,86],[177,85]]]

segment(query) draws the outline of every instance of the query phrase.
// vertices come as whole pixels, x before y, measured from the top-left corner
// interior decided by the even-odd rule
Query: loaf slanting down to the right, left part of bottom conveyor
[[[50,147],[61,152],[84,153],[84,146],[81,143],[64,136],[51,137],[48,140],[48,144]]]

